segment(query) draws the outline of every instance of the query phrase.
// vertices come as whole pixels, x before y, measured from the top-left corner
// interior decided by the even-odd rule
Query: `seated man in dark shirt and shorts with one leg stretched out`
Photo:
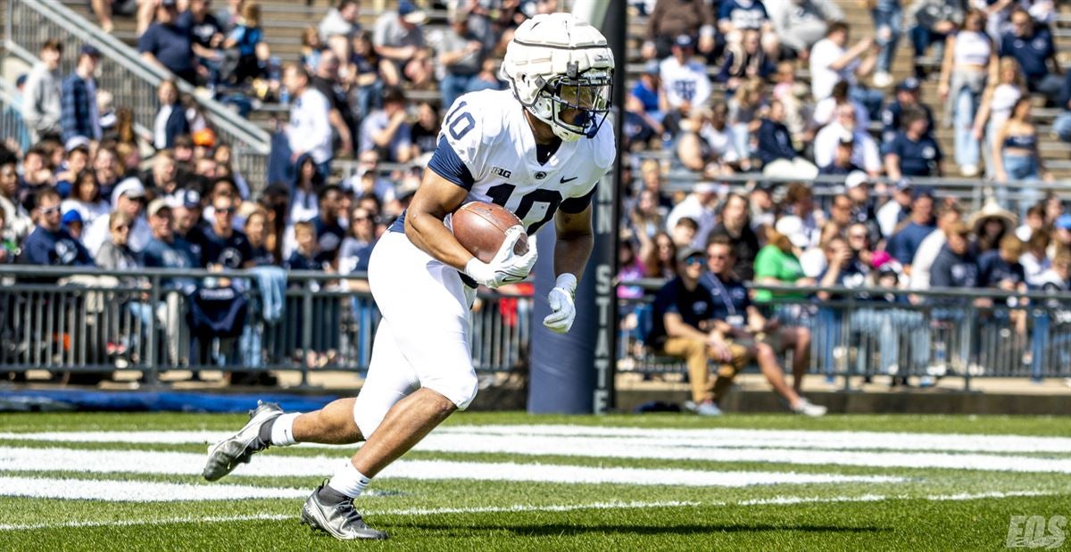
[[[719,368],[718,379],[711,386],[712,396],[709,400],[716,403],[724,397],[733,385],[733,379],[737,372],[754,358],[758,363],[763,375],[773,387],[773,392],[785,399],[793,412],[808,416],[821,416],[826,413],[826,408],[812,404],[799,394],[810,356],[801,355],[795,362],[793,366],[795,388],[789,387],[785,383],[784,370],[778,364],[776,351],[771,344],[771,340],[767,339],[767,334],[770,334],[776,336],[778,340],[788,343],[793,341],[801,328],[781,328],[776,321],[767,320],[751,304],[748,289],[734,275],[733,265],[736,259],[734,258],[733,245],[725,236],[714,237],[707,244],[707,266],[710,272],[700,277],[699,286],[710,291],[712,300],[711,331],[719,333],[734,351],[742,349],[745,354],[742,363],[734,362]],[[810,348],[810,334],[806,335],[806,341],[803,344]]]

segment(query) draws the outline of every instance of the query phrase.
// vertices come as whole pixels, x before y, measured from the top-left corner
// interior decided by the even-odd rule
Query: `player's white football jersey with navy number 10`
[[[613,122],[607,120],[594,138],[563,141],[540,164],[536,138],[513,92],[484,90],[465,94],[451,106],[428,169],[466,187],[466,203],[502,205],[534,235],[563,204],[568,212],[583,211],[616,153]],[[401,230],[401,225],[392,229]]]

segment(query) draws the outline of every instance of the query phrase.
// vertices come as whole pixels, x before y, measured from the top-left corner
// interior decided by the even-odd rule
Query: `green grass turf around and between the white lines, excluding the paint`
[[[235,429],[238,415],[199,414],[15,414],[0,416],[3,431],[196,430]],[[647,428],[754,428],[948,433],[1068,434],[1068,421],[1054,417],[1010,416],[829,416],[802,419],[785,415],[728,416],[700,419],[673,415],[560,417],[519,413],[463,413],[451,425],[583,424]],[[148,449],[202,453],[200,445],[117,445],[0,441],[0,446],[84,449]],[[345,450],[272,449],[272,455],[338,456]],[[362,497],[360,507],[374,525],[391,533],[387,543],[360,543],[391,550],[993,550],[1002,548],[1011,516],[1067,516],[1071,512],[1071,475],[968,470],[917,470],[840,465],[797,465],[766,462],[706,462],[519,456],[417,451],[407,459],[476,462],[570,464],[648,469],[780,471],[887,475],[907,478],[896,484],[772,485],[748,488],[684,488],[673,486],[565,485],[547,482],[422,481],[382,479],[374,487],[382,496]],[[1071,459],[1067,455],[1043,455]],[[202,485],[195,476],[82,473],[77,459],[69,472],[0,472],[0,476],[124,479]],[[325,474],[327,475],[327,474]],[[231,477],[230,484],[312,488],[310,477]],[[933,501],[933,495],[1034,491],[1044,496]],[[2,493],[0,493],[2,494]],[[874,502],[810,502],[741,504],[781,496],[829,501],[866,495],[894,497]],[[688,502],[674,507],[573,509],[545,511],[540,506],[576,506],[604,502]],[[296,516],[301,500],[139,503],[57,501],[0,497],[0,524],[45,524],[36,530],[0,530],[0,549],[40,550],[333,550],[335,542],[311,533]],[[516,511],[456,511],[414,515],[412,508],[515,508]],[[200,519],[216,516],[285,516],[285,519],[226,522],[151,520]],[[69,522],[120,522],[135,525],[63,527]]]

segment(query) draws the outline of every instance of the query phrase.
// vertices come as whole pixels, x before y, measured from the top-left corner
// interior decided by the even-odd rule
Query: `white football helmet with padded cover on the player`
[[[525,109],[562,140],[594,138],[609,113],[614,52],[599,29],[572,14],[521,24],[501,75]]]

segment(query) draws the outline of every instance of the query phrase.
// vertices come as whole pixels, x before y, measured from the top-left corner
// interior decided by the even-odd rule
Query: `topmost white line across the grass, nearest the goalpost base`
[[[0,440],[78,443],[207,444],[223,431],[64,431],[0,432]],[[432,434],[450,440],[497,438],[587,438],[594,442],[638,442],[698,448],[803,448],[833,450],[947,450],[959,453],[1056,453],[1071,450],[1071,438],[897,433],[876,431],[806,431],[761,429],[644,429],[569,425],[450,426]],[[333,445],[304,445],[333,446]]]

